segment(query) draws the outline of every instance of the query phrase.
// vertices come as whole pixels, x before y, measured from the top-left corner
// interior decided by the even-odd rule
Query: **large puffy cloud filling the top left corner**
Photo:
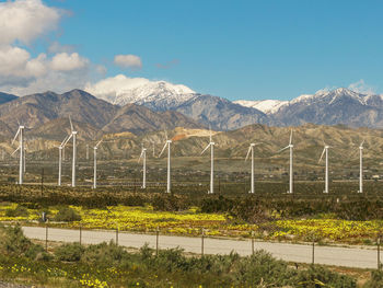
[[[59,20],[59,10],[45,5],[40,0],[1,2],[0,44],[10,45],[15,41],[28,44],[55,30]]]

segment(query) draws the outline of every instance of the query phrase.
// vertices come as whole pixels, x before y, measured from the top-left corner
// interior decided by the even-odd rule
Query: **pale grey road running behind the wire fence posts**
[[[45,228],[23,227],[23,230],[25,235],[31,239],[45,240]],[[79,230],[48,229],[49,241],[79,242]],[[84,244],[97,244],[111,240],[116,240],[115,231],[82,230],[82,243]],[[118,244],[128,247],[141,247],[144,243],[148,243],[151,247],[155,247],[155,235],[127,232],[118,233]],[[160,249],[177,246],[184,249],[185,252],[201,253],[201,239],[171,235],[159,237]],[[255,250],[270,252],[275,257],[285,261],[298,263],[312,262],[311,245],[256,241],[254,247]],[[231,251],[235,251],[240,255],[245,256],[252,253],[252,242],[205,238],[204,251],[205,254],[229,254]],[[376,250],[371,249],[315,246],[315,263],[346,267],[375,268],[378,261],[376,254]]]

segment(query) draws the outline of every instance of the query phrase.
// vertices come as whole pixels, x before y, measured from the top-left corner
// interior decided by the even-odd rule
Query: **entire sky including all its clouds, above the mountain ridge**
[[[372,0],[0,0],[0,91],[123,74],[229,100],[383,93],[382,12]]]

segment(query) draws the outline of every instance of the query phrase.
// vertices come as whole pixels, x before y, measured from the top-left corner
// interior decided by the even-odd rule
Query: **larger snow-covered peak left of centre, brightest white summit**
[[[123,74],[88,84],[85,91],[115,105],[135,103],[155,111],[172,110],[197,95],[186,85]]]

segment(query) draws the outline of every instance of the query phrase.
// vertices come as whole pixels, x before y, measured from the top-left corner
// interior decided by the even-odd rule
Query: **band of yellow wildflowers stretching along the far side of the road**
[[[80,215],[80,221],[54,221],[60,207],[46,208],[48,217],[53,219],[50,226],[84,229],[116,229],[132,232],[155,232],[200,235],[204,229],[210,237],[241,237],[249,238],[254,234],[258,239],[279,241],[315,241],[327,243],[371,244],[380,231],[383,231],[382,220],[338,220],[332,215],[324,215],[320,219],[277,219],[262,224],[251,224],[235,221],[227,214],[199,212],[197,208],[184,211],[156,211],[151,206],[108,206],[105,208],[84,208],[69,206]],[[7,216],[8,210],[18,208],[16,204],[0,206],[0,221],[18,221],[23,224],[38,224],[44,209],[26,208],[24,216]]]

